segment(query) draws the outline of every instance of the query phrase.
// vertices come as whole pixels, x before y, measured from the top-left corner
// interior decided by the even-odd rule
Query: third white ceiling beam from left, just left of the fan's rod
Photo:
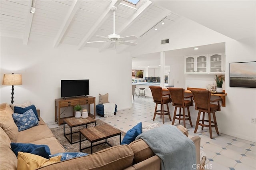
[[[95,32],[104,24],[105,20],[110,16],[110,10],[113,6],[118,6],[120,4],[121,0],[112,0],[112,2],[109,4],[108,8],[101,14],[99,19],[95,22],[95,24],[92,26],[92,28],[87,32],[87,34],[84,36],[82,41],[78,45],[78,49],[81,50],[84,45],[92,38],[92,36],[95,34]]]

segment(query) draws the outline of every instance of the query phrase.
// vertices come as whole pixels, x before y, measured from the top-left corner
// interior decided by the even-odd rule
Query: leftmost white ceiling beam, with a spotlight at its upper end
[[[34,16],[34,14],[32,14],[30,12],[32,3],[33,3],[32,0],[28,1],[28,16],[27,16],[26,25],[24,28],[24,36],[23,36],[23,44],[24,45],[28,44],[28,39],[30,36],[30,30],[31,30],[31,26],[32,26],[32,20],[33,20],[33,16]],[[33,7],[35,7],[35,6],[36,6],[36,2],[34,2]]]

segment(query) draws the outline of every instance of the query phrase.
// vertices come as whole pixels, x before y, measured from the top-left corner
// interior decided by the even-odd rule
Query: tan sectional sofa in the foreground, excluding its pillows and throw
[[[17,157],[10,147],[11,142],[46,144],[52,154],[65,152],[51,130],[40,118],[39,125],[18,132],[13,119],[10,105],[1,104],[0,112],[0,169],[16,170]],[[40,111],[38,111],[40,117]],[[179,127],[188,136],[186,128]],[[196,146],[196,161],[200,159],[200,137],[191,138]],[[160,170],[161,160],[142,139],[129,145],[113,146],[99,152],[64,160],[38,169],[43,170]]]

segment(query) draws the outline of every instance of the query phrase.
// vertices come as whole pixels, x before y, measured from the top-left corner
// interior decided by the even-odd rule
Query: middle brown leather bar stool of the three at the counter
[[[175,106],[172,125],[174,125],[175,119],[178,119],[179,123],[180,121],[183,121],[185,128],[186,128],[185,121],[189,121],[190,126],[193,127],[191,117],[190,117],[190,111],[189,111],[189,107],[193,106],[193,100],[192,100],[193,95],[184,97],[185,89],[183,88],[169,87],[167,89],[170,91],[170,94],[171,94],[172,105]],[[190,100],[184,100],[188,98],[190,98]],[[180,108],[180,112],[178,115],[176,114],[177,108]],[[181,108],[183,109],[183,114],[181,114]],[[185,108],[187,108],[188,110],[188,115],[185,115]]]

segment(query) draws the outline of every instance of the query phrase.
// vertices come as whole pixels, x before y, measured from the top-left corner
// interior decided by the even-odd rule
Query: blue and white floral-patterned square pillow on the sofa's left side
[[[38,119],[32,109],[29,109],[23,114],[13,113],[12,118],[19,132],[38,125]]]

